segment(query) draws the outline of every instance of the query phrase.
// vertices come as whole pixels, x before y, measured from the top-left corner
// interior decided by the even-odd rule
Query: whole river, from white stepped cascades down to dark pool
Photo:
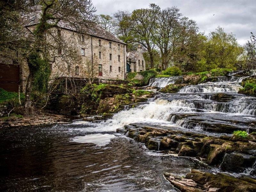
[[[243,78],[230,74],[214,83],[186,86],[179,93],[157,93],[106,121],[4,128],[0,131],[0,189],[176,191],[164,172],[184,176],[191,169],[218,170],[195,158],[149,151],[116,129],[144,123],[218,136],[230,132],[216,131],[214,124],[253,130],[256,100],[237,93]],[[164,87],[174,80],[152,79],[150,85]],[[225,101],[214,100],[216,93],[225,93]],[[190,115],[180,119],[181,114]]]

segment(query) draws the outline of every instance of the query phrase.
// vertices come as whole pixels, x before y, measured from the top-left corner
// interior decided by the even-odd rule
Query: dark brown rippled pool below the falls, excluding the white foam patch
[[[197,160],[159,155],[117,135],[105,146],[71,142],[85,125],[0,130],[1,191],[176,191],[164,172],[204,169]],[[72,131],[74,129],[74,131]],[[91,133],[91,132],[90,132]],[[160,154],[162,155],[162,154]]]

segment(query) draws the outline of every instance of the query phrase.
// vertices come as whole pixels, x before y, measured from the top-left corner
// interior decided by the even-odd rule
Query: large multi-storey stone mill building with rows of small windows
[[[40,10],[22,17],[23,25],[29,33],[35,30],[40,18]],[[70,44],[70,47],[73,46],[74,49],[77,49],[77,54],[81,56],[81,59],[80,62],[69,64],[63,62],[61,57],[56,57],[56,60],[51,64],[51,79],[56,77],[88,78],[92,76],[99,79],[124,79],[126,73],[126,44],[113,34],[98,25],[93,25],[84,34],[80,34],[64,22],[59,22],[58,28],[52,30],[56,30],[56,33],[64,37],[63,39],[67,44]],[[65,51],[64,49],[51,51],[55,55],[61,55]],[[10,68],[10,66],[13,65],[0,63],[0,82],[5,82],[4,89],[18,91],[20,85],[21,90],[25,91],[26,79],[29,74],[28,65],[22,63],[18,67]],[[7,79],[1,78],[6,70],[15,70],[13,72],[15,79],[10,76],[6,77]],[[12,83],[10,84],[10,82]],[[13,88],[8,89],[11,85]]]

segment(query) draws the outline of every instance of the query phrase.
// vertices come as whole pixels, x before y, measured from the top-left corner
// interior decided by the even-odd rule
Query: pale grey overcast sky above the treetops
[[[200,31],[208,34],[221,26],[236,35],[240,44],[250,39],[250,32],[256,33],[256,0],[214,1],[214,0],[92,0],[97,14],[112,14],[118,10],[133,11],[148,8],[155,3],[161,8],[177,6],[180,12],[196,20]]]

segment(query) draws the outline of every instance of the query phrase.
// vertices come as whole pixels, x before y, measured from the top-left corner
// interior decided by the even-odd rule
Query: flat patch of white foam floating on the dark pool
[[[111,134],[89,134],[85,136],[79,136],[72,139],[73,142],[77,143],[94,143],[98,146],[104,146],[110,143],[110,140],[115,138],[115,135]]]

